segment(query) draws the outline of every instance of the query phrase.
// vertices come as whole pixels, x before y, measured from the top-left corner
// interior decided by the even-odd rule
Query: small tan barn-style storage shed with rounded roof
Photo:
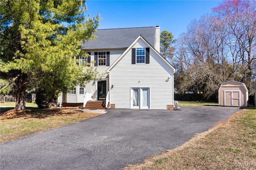
[[[230,80],[221,84],[219,89],[220,106],[248,106],[248,89],[244,83]]]

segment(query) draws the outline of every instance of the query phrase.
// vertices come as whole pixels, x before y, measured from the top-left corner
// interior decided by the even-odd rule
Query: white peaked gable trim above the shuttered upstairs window
[[[143,40],[149,47],[150,49],[152,49],[155,53],[157,53],[157,55],[164,60],[165,63],[168,64],[168,66],[173,69],[173,72],[175,73],[176,72],[176,69],[174,68],[174,66],[169,63],[166,59],[164,59],[164,57],[158,52],[156,51],[156,49],[150,44],[148,43],[141,35],[138,36],[138,38],[136,38],[136,40],[134,40],[132,42],[132,44],[130,44],[130,46],[124,51],[124,53],[122,53],[122,55],[120,55],[120,57],[118,57],[118,59],[107,69],[107,73],[109,73],[111,71],[111,69],[113,69],[115,67],[115,65],[124,57],[124,55],[126,55],[126,53],[132,49],[132,47],[135,45],[136,42],[138,42],[138,40]]]

